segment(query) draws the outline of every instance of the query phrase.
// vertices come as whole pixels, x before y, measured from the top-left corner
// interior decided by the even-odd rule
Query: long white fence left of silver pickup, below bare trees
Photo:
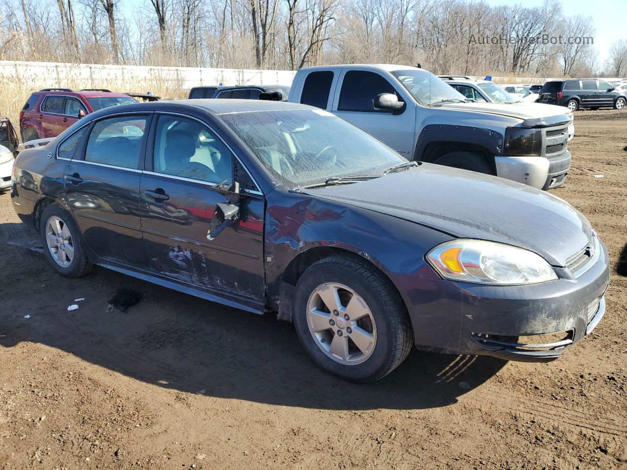
[[[130,83],[145,87],[189,89],[200,85],[290,85],[290,70],[239,70],[232,68],[150,67],[54,62],[0,61],[2,83],[18,81],[31,88],[78,87],[120,89]],[[115,85],[119,86],[115,86]],[[159,85],[157,85],[159,84]]]

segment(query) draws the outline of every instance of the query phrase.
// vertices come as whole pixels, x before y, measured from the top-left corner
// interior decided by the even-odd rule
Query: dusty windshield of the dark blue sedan
[[[263,110],[220,117],[287,187],[347,176],[381,176],[408,161],[324,110]]]

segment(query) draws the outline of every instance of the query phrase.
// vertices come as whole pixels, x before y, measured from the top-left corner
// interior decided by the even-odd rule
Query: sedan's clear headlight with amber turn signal
[[[459,239],[427,253],[443,278],[492,285],[537,284],[557,279],[544,258],[532,251],[492,241]]]

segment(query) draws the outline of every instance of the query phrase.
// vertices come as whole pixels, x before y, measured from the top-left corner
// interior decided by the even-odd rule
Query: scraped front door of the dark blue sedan
[[[140,187],[150,270],[260,310],[263,196],[234,191],[238,160],[204,123],[163,114],[153,128]],[[224,211],[234,207],[236,217],[225,219]]]

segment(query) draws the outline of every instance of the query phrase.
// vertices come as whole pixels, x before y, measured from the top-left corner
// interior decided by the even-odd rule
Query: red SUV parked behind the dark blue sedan
[[[109,90],[44,88],[35,91],[19,112],[22,142],[36,138],[56,137],[83,116],[102,108],[137,104],[125,93]]]

